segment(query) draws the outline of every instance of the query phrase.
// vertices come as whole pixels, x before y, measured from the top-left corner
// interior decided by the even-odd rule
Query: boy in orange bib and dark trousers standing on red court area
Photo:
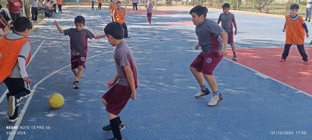
[[[309,30],[307,28],[307,25],[305,24],[304,19],[301,16],[297,15],[298,9],[298,4],[292,4],[290,6],[290,15],[285,16],[286,22],[282,31],[286,31],[286,40],[280,62],[286,61],[286,58],[289,54],[290,46],[295,44],[297,45],[298,51],[302,56],[303,63],[309,64],[308,55],[305,52],[305,46],[303,45],[305,43],[305,36],[307,38],[309,37]]]

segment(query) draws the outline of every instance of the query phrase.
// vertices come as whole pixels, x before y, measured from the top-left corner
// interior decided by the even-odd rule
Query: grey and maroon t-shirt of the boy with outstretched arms
[[[63,31],[65,36],[68,35],[71,38],[71,55],[87,56],[88,38],[92,39],[95,35],[87,29],[77,31],[76,28],[70,28]]]

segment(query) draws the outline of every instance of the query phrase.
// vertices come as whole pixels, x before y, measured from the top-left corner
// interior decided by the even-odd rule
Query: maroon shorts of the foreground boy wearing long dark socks
[[[136,89],[137,87],[135,87]],[[130,86],[115,84],[102,98],[107,101],[106,111],[118,115],[126,106],[131,94]]]

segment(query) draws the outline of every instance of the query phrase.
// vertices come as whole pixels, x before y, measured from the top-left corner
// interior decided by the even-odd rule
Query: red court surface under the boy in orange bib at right
[[[286,61],[280,62],[284,47],[236,49],[235,62],[270,76],[280,82],[312,95],[312,61],[303,64],[297,47],[291,47]],[[309,57],[312,47],[305,47]],[[232,60],[232,50],[228,49],[226,58]],[[309,58],[308,57],[308,58]]]

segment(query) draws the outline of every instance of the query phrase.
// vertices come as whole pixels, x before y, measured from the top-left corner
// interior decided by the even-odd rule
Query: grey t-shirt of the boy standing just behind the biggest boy
[[[219,19],[221,21],[221,27],[227,33],[233,32],[233,21],[235,21],[234,14],[229,12],[228,14],[221,13]]]

